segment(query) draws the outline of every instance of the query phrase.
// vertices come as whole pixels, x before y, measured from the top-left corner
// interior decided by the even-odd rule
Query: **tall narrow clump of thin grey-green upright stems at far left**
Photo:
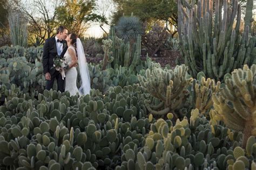
[[[8,20],[12,45],[26,47],[28,44],[28,24],[22,17],[22,13],[11,11],[9,12]]]

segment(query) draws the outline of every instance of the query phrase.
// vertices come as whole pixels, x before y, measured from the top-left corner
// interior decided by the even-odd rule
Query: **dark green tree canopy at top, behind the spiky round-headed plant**
[[[122,1],[113,0],[117,4],[117,12],[114,12],[112,23],[116,24],[118,18],[124,13],[130,16],[133,12],[142,22],[154,23],[156,20],[166,24],[166,29],[172,34],[177,31],[178,15],[177,3],[175,0],[140,0],[140,1]],[[172,27],[176,28],[172,30]]]

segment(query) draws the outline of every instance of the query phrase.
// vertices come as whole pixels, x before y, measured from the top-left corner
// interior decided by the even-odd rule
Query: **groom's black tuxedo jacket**
[[[66,50],[68,49],[68,45],[66,44],[66,41],[63,40],[63,51],[60,56],[63,58]],[[56,46],[56,40],[55,37],[48,38],[45,40],[44,43],[44,51],[43,51],[43,68],[44,68],[44,74],[50,73],[51,75],[56,72],[55,68],[53,67],[53,59],[58,55],[57,53],[57,46]]]

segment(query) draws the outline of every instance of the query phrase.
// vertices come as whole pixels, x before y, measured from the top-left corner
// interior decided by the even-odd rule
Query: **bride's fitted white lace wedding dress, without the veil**
[[[75,47],[73,46],[70,46],[69,48],[71,48],[73,51],[76,51]],[[71,55],[69,54],[69,50],[67,50],[66,53],[64,54],[64,59],[66,62],[68,62],[68,65],[71,64],[72,58],[71,58]],[[77,68],[72,67],[68,69],[68,71],[65,74],[66,74],[65,91],[69,91],[70,96],[74,96],[76,94],[81,95],[80,91],[77,88]]]

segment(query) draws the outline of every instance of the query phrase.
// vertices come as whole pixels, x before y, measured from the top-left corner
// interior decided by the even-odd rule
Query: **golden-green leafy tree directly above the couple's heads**
[[[105,22],[105,17],[94,13],[95,10],[95,1],[66,0],[57,8],[57,19],[59,24],[68,28],[69,32],[74,32],[81,37],[90,26],[90,21]]]

